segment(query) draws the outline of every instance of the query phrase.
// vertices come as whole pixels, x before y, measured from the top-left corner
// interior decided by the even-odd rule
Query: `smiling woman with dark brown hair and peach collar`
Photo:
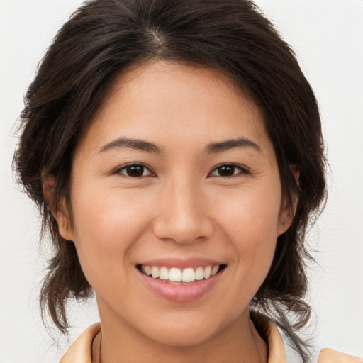
[[[96,293],[62,362],[284,362],[282,339],[316,361],[296,330],[318,106],[250,1],[85,4],[30,85],[16,166],[54,242],[43,308],[65,333]]]

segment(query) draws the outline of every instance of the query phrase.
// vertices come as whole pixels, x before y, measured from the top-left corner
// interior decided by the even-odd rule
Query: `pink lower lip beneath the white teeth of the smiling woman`
[[[149,289],[154,291],[157,295],[170,301],[178,303],[186,303],[201,298],[203,295],[211,291],[219,281],[224,269],[218,274],[210,277],[209,279],[197,280],[192,284],[187,285],[174,285],[160,279],[153,279],[143,274],[139,270],[138,274],[144,281]]]

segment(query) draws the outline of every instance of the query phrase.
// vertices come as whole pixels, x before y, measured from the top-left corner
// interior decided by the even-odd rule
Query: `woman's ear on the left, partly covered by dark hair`
[[[50,212],[52,213],[55,220],[57,220],[58,230],[60,235],[65,240],[74,240],[73,230],[71,228],[71,223],[69,220],[69,215],[67,212],[67,206],[65,205],[65,201],[62,201],[59,206],[56,206],[53,201],[53,193],[55,190],[55,177],[53,175],[49,175],[43,178],[43,196],[45,202],[48,204],[50,208]]]

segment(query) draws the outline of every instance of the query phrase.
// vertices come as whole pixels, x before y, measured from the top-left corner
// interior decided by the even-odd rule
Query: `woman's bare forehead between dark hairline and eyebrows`
[[[198,135],[198,143],[267,139],[262,111],[232,79],[215,69],[160,60],[118,74],[82,139],[90,134],[94,145],[121,136],[192,142]]]

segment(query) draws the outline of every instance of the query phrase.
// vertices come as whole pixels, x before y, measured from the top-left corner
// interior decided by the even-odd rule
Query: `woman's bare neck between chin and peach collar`
[[[92,363],[238,362],[267,363],[267,345],[252,321],[242,314],[227,329],[205,342],[183,347],[155,342],[127,325],[102,319],[102,333],[94,340]]]

